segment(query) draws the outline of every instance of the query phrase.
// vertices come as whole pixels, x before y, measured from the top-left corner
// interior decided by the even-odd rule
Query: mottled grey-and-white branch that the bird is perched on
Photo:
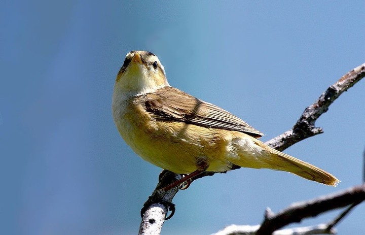
[[[266,142],[267,145],[277,150],[284,150],[295,143],[304,140],[308,137],[322,133],[323,130],[320,127],[315,127],[315,121],[319,116],[325,113],[329,106],[344,92],[352,87],[356,82],[365,76],[365,63],[357,66],[352,71],[345,74],[335,84],[330,86],[311,106],[307,107],[302,116],[299,118],[294,127],[288,131],[285,131],[282,135],[275,137]],[[234,166],[232,170],[240,168]],[[198,179],[204,176],[212,176],[215,173],[206,172],[194,178]],[[181,175],[173,174],[169,171],[164,170],[160,174],[159,183],[149,197],[147,202],[141,211],[143,214],[142,222],[139,229],[139,234],[160,234],[162,223],[165,220],[165,216],[171,205],[172,199],[177,193],[178,189],[174,188],[166,193],[161,193],[159,189],[170,184],[171,179],[179,179]],[[160,210],[158,210],[160,208]],[[172,209],[173,210],[173,209]],[[155,212],[155,213],[152,213]],[[303,217],[304,218],[304,217]],[[158,221],[158,229],[149,230],[154,227],[154,224]],[[157,223],[156,223],[157,225]],[[265,227],[264,227],[265,228]],[[150,232],[150,233],[149,233]],[[263,233],[262,233],[263,234]]]

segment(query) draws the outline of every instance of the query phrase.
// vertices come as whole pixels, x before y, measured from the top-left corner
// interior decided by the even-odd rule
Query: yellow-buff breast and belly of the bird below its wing
[[[209,164],[207,171],[223,172],[232,163],[225,157],[229,139],[217,129],[183,122],[156,121],[142,107],[129,107],[115,122],[125,142],[144,160],[174,173],[197,170],[197,161]]]

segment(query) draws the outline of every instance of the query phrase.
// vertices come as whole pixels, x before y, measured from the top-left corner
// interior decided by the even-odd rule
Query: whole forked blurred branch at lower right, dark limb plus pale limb
[[[265,213],[265,220],[261,225],[230,225],[212,235],[241,235],[241,234],[274,234],[274,235],[305,235],[305,234],[335,234],[334,226],[338,224],[354,207],[365,200],[365,184],[351,187],[347,190],[295,203],[278,214],[274,214],[269,208]],[[326,224],[319,224],[308,227],[279,228],[293,223],[300,222],[304,218],[315,217],[323,212],[349,206],[333,221]]]

